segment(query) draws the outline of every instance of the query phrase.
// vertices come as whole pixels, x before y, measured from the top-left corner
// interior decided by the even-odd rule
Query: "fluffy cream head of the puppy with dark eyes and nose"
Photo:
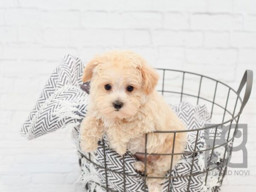
[[[95,56],[84,69],[90,81],[90,97],[96,110],[107,118],[134,116],[157,84],[158,74],[131,51],[111,51]]]

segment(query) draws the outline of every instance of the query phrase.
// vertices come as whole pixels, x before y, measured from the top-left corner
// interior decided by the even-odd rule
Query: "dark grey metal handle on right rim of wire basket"
[[[244,76],[243,76],[241,83],[239,85],[239,88],[237,90],[237,93],[239,95],[240,95],[240,92],[243,89],[245,83],[246,83],[246,87],[245,87],[245,92],[244,92],[244,99],[242,101],[241,108],[240,108],[240,113],[243,111],[244,106],[246,105],[246,103],[250,97],[251,90],[252,90],[252,86],[253,86],[253,71],[252,70],[246,70],[244,72]]]

